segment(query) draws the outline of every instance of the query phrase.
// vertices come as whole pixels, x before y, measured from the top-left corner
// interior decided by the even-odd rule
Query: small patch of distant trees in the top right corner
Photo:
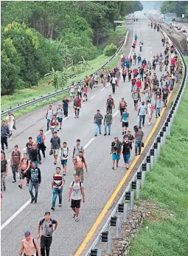
[[[161,13],[176,13],[178,17],[185,14],[188,17],[188,1],[163,1]]]

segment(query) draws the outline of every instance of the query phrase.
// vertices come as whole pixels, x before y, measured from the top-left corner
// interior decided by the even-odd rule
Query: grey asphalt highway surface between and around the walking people
[[[138,41],[142,41],[143,50],[142,58],[151,60],[156,53],[163,52],[161,45],[161,34],[147,27],[145,15],[142,12],[136,13],[139,21],[136,25],[130,19],[128,21],[129,38],[125,49],[125,56],[133,55],[131,52],[131,44],[133,35],[138,35]],[[139,54],[139,46],[136,46],[136,55]],[[159,66],[156,68],[159,73]],[[128,77],[126,78],[128,79]],[[72,210],[69,207],[68,188],[73,181],[73,166],[72,156],[68,160],[68,173],[66,175],[66,184],[63,187],[63,207],[59,208],[58,204],[55,212],[50,210],[52,206],[52,175],[55,172],[53,164],[53,156],[49,156],[49,140],[52,136],[51,132],[46,134],[46,159],[42,159],[41,168],[41,187],[39,189],[38,204],[29,204],[29,191],[24,185],[23,190],[18,188],[18,182],[12,184],[12,170],[8,168],[8,176],[6,179],[7,191],[3,193],[3,210],[1,211],[1,255],[18,255],[20,249],[20,241],[24,237],[24,231],[29,229],[32,236],[36,237],[38,222],[43,218],[44,212],[50,210],[52,218],[58,221],[58,229],[53,236],[51,246],[51,255],[72,256],[77,251],[77,248],[82,243],[83,239],[88,234],[97,216],[102,211],[108,199],[111,197],[116,186],[125,175],[125,167],[123,159],[119,163],[118,169],[111,169],[110,148],[114,136],[118,135],[122,139],[122,125],[120,123],[120,114],[118,111],[119,100],[125,98],[128,103],[128,111],[130,113],[129,128],[133,131],[133,125],[138,124],[137,112],[133,109],[133,100],[130,94],[130,83],[126,80],[125,83],[120,82],[116,94],[113,95],[116,108],[113,112],[114,122],[111,126],[111,136],[103,136],[104,127],[102,127],[102,135],[94,136],[94,114],[97,109],[100,109],[101,114],[105,115],[105,102],[108,95],[112,93],[111,86],[103,89],[100,86],[98,89],[89,93],[88,102],[83,104],[80,111],[80,118],[74,119],[74,111],[69,110],[69,117],[63,121],[62,130],[58,133],[61,142],[66,141],[69,149],[72,151],[76,139],[81,139],[81,144],[86,148],[86,161],[88,164],[88,173],[85,174],[84,185],[86,187],[86,203],[82,204],[80,211],[80,221],[75,222],[72,218]],[[142,95],[144,99],[144,95]],[[57,104],[58,105],[58,104]],[[54,109],[57,108],[54,107]],[[10,153],[15,144],[18,144],[21,153],[25,148],[28,136],[33,139],[38,135],[38,130],[43,128],[46,131],[45,112],[47,106],[42,107],[38,111],[33,111],[30,114],[21,117],[18,120],[17,129],[13,138],[9,141],[9,150],[6,153],[6,159],[10,159]],[[150,134],[156,118],[153,118],[153,124],[147,126],[147,119],[143,131],[145,139]],[[134,158],[132,152],[131,161]],[[59,160],[59,159],[58,159]],[[60,162],[59,162],[60,163]],[[58,166],[58,165],[57,165]],[[84,252],[83,254],[84,255]]]

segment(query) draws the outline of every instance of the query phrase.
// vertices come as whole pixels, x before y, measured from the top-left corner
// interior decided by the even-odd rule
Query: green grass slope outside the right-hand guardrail
[[[188,58],[186,58],[188,64]],[[146,219],[132,241],[128,256],[186,256],[188,237],[188,86],[185,89],[171,136],[158,161],[147,173],[141,197],[171,215]],[[151,214],[156,215],[153,211]],[[160,215],[160,212],[157,212]],[[147,229],[146,229],[147,226]]]

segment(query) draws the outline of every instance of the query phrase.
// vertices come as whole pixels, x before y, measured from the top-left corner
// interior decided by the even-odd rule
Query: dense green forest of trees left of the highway
[[[66,80],[70,66],[101,54],[114,20],[136,10],[140,1],[1,1],[1,94],[51,70]]]

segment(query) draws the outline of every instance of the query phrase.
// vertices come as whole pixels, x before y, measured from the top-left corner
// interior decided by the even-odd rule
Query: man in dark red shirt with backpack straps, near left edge
[[[10,167],[13,171],[13,183],[16,182],[15,173],[18,173],[18,166],[21,161],[21,152],[18,151],[18,145],[15,145],[13,152],[10,157]]]

